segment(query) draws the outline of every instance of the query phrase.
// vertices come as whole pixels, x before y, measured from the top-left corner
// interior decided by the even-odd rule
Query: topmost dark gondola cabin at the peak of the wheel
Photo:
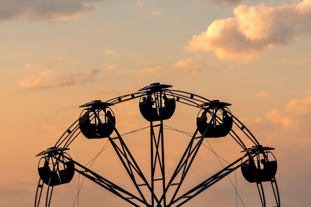
[[[141,114],[147,121],[159,121],[169,119],[175,111],[176,102],[169,90],[162,90],[171,87],[165,84],[154,83],[142,90],[147,90],[139,103]]]

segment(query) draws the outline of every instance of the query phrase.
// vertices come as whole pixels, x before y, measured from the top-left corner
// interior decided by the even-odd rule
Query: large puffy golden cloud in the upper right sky
[[[311,0],[275,7],[239,5],[233,14],[194,35],[184,50],[212,51],[219,59],[247,63],[264,50],[286,46],[311,33]]]

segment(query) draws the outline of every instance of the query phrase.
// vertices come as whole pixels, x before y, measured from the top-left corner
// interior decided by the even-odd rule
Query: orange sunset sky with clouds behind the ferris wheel
[[[259,143],[276,149],[281,205],[308,207],[310,20],[311,0],[0,0],[0,206],[34,205],[35,155],[54,146],[78,119],[79,105],[159,82],[231,103]],[[148,125],[137,102],[113,108],[120,131]],[[194,131],[197,114],[177,105],[168,123]],[[176,139],[167,138],[167,148],[178,154],[185,144]],[[139,150],[148,142],[128,140],[142,166],[149,166],[148,152]],[[239,149],[226,141],[211,143],[221,155],[238,157]],[[81,135],[68,153],[87,163],[106,142]],[[207,152],[200,152],[193,178],[216,172],[219,163]],[[113,153],[108,147],[98,170],[122,180],[126,175]],[[168,150],[170,155],[178,157]],[[171,158],[167,165],[174,163]],[[260,206],[255,184],[240,171],[235,177],[245,206]],[[76,174],[55,187],[51,206],[129,206],[87,181],[79,205],[74,203],[81,180]],[[237,206],[229,179],[211,189],[188,206]]]

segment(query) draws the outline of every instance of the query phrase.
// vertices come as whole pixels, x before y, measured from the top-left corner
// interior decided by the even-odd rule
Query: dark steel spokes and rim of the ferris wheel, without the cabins
[[[210,100],[205,99],[203,97],[186,93],[182,91],[175,91],[175,90],[167,90],[164,89],[162,91],[167,91],[171,93],[176,102],[191,105],[200,109],[204,109],[203,106],[199,106],[200,104],[204,104],[206,102],[210,102]],[[117,97],[111,100],[108,100],[107,103],[111,105],[120,104],[129,100],[141,98],[146,95],[146,92],[138,92],[134,94],[129,94],[121,97]],[[161,96],[161,95],[160,95]],[[225,109],[226,110],[226,109]],[[226,110],[228,114],[233,117],[233,123],[238,126],[239,130],[243,132],[243,134],[255,145],[260,146],[259,142],[255,139],[255,137],[251,134],[251,132],[235,117],[233,114]],[[210,119],[210,123],[217,118],[217,110],[213,113],[212,118]],[[155,133],[155,128],[158,128],[158,133]],[[208,129],[206,129],[207,131]],[[135,207],[172,207],[176,205],[176,207],[180,207],[184,205],[186,202],[190,201],[236,169],[238,169],[242,164],[246,163],[248,160],[252,159],[254,156],[258,154],[264,154],[263,151],[259,151],[256,154],[245,154],[242,157],[233,161],[233,163],[229,164],[228,166],[224,167],[219,172],[215,173],[213,176],[207,178],[205,181],[201,182],[200,184],[194,186],[191,190],[184,193],[181,196],[177,196],[178,190],[180,189],[190,167],[193,163],[195,156],[197,155],[204,138],[204,134],[202,136],[197,136],[198,129],[195,130],[188,147],[186,148],[185,152],[183,153],[182,157],[180,158],[179,163],[177,164],[174,173],[169,178],[169,181],[166,182],[166,175],[165,175],[165,154],[164,154],[164,134],[163,134],[163,120],[161,119],[158,124],[155,122],[150,122],[150,153],[151,153],[151,175],[150,175],[150,182],[145,177],[144,173],[140,169],[138,163],[136,162],[134,156],[131,154],[130,150],[128,149],[126,143],[124,142],[122,136],[119,134],[117,128],[115,127],[115,133],[117,134],[116,137],[108,137],[111,146],[114,148],[116,154],[118,155],[120,161],[122,162],[125,170],[127,171],[133,185],[135,186],[137,192],[131,193],[122,187],[118,186],[117,184],[109,181],[108,179],[102,177],[101,175],[93,172],[92,170],[88,169],[87,167],[83,166],[82,164],[78,163],[71,157],[68,157],[63,154],[63,150],[54,154],[49,154],[48,156],[53,156],[57,158],[58,155],[62,154],[68,160],[73,161],[77,166],[81,169],[75,168],[75,170],[88,178],[89,180],[93,181],[94,183],[98,184],[99,186],[103,187],[104,189],[110,191],[114,195],[118,196],[119,198],[125,200],[129,204]],[[61,136],[61,138],[55,144],[55,147],[66,149],[69,145],[76,139],[80,131],[78,130],[78,120],[74,122],[69,129]],[[236,132],[231,130],[230,136],[236,141],[236,143],[242,148],[242,150],[246,150],[246,146],[242,142],[241,138],[237,135]],[[196,142],[195,142],[196,141]],[[247,157],[248,156],[248,157]],[[245,157],[247,157],[245,159]],[[61,160],[60,160],[61,161]],[[156,172],[159,171],[160,177],[156,177]],[[157,173],[158,176],[158,173]],[[155,193],[155,184],[156,182],[161,182],[161,193],[157,195]],[[279,192],[276,184],[276,179],[274,178],[271,181],[276,205],[280,207],[280,198]],[[39,179],[36,199],[35,199],[35,207],[39,207],[40,198],[42,195],[44,183]],[[141,187],[145,186],[148,189],[149,195],[151,195],[151,204],[147,201],[146,195],[141,190]],[[169,189],[175,188],[173,196],[169,199],[166,196],[166,193]],[[257,188],[259,191],[260,199],[262,206],[265,207],[265,197],[262,183],[257,183]],[[52,190],[49,191],[49,186],[47,189],[47,196],[46,196],[46,207],[50,206],[51,197],[53,192]],[[138,195],[137,195],[138,194]]]

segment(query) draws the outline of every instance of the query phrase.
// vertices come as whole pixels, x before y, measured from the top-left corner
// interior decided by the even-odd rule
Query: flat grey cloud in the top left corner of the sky
[[[77,18],[104,0],[0,0],[0,21],[24,18],[36,21],[62,21]]]

